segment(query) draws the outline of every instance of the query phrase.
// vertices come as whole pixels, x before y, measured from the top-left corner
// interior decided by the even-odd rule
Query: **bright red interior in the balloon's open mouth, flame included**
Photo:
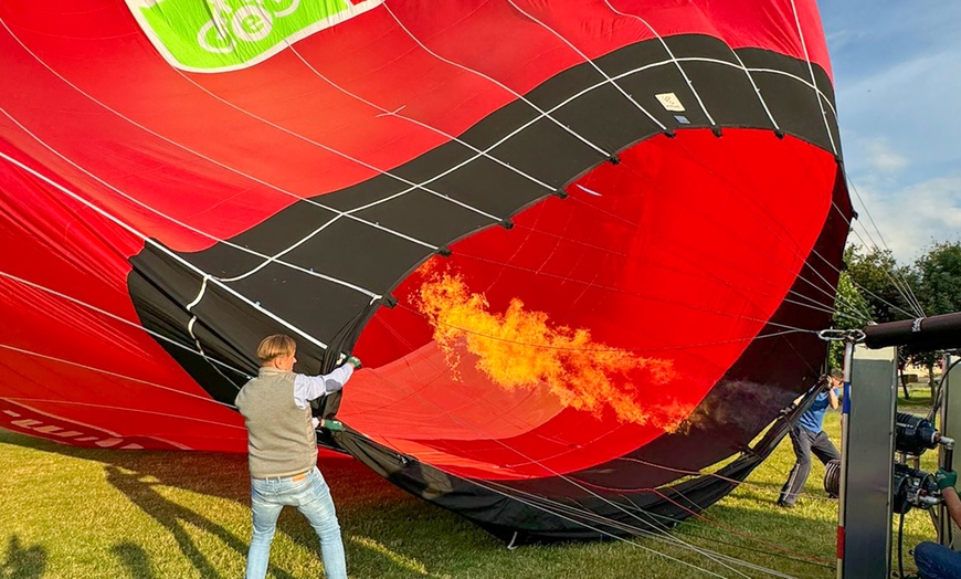
[[[638,143],[427,261],[361,335],[339,415],[476,478],[556,476],[684,433],[796,280],[835,176],[799,139],[724,135]]]

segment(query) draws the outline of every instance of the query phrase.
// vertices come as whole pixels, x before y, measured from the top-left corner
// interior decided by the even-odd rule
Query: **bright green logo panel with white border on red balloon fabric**
[[[383,0],[126,0],[170,64],[196,72],[252,66]]]

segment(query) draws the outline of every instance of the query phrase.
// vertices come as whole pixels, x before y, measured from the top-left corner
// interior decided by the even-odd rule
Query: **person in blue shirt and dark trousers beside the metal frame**
[[[831,370],[827,381],[830,382],[827,391],[819,393],[811,407],[798,419],[798,423],[791,428],[791,443],[794,445],[794,455],[798,457],[798,462],[794,463],[788,482],[781,488],[778,506],[792,508],[798,502],[798,495],[804,489],[804,483],[807,482],[807,475],[811,474],[812,452],[824,464],[827,464],[827,461],[841,459],[841,453],[827,438],[823,425],[827,407],[837,408],[838,388],[844,381],[844,372],[838,369]],[[804,397],[799,396],[794,403],[800,403],[802,398]]]

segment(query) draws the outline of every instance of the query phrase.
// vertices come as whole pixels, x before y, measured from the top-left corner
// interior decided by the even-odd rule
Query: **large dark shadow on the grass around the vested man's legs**
[[[240,538],[239,530],[229,530],[211,517],[178,505],[158,492],[165,486],[175,487],[234,501],[250,508],[245,454],[84,449],[2,429],[0,444],[103,463],[106,481],[173,536],[180,551],[201,577],[221,575],[209,554],[191,538],[188,527],[218,537],[226,549],[246,558],[249,545],[246,538]],[[427,568],[445,567],[441,561],[450,559],[452,551],[455,558],[507,552],[499,540],[452,513],[408,495],[352,457],[321,453],[319,467],[334,495],[351,577],[430,577],[433,573]],[[250,525],[249,519],[246,525]],[[320,559],[317,535],[295,508],[284,509],[277,528]],[[244,531],[249,537],[250,529]],[[113,548],[113,554],[126,568],[128,577],[155,579],[149,556],[142,547],[123,543]],[[292,577],[273,565],[271,571],[281,579]],[[0,578],[7,579],[7,576],[0,573]]]

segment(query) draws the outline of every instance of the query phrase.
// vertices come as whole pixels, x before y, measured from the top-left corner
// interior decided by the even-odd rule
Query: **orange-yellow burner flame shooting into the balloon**
[[[526,310],[517,298],[503,314],[492,313],[487,298],[471,293],[460,274],[429,264],[421,273],[426,280],[414,305],[433,326],[455,378],[466,350],[500,388],[548,388],[563,406],[595,415],[608,407],[622,422],[674,432],[690,411],[664,394],[676,377],[670,360],[593,341],[585,328],[553,326],[546,313]],[[648,396],[652,390],[657,396]]]

